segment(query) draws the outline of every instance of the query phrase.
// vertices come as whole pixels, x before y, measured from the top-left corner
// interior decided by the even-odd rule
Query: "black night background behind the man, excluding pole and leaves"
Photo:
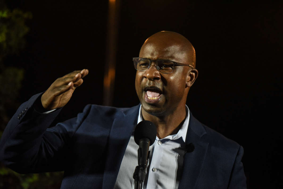
[[[283,3],[278,2],[121,0],[113,106],[139,103],[132,57],[145,39],[162,30],[178,32],[196,50],[199,76],[188,95],[190,111],[244,147],[248,188],[282,188]],[[87,68],[89,75],[58,121],[76,116],[86,104],[102,104],[108,1],[6,4],[33,14],[26,48],[5,60],[25,70],[19,100]]]

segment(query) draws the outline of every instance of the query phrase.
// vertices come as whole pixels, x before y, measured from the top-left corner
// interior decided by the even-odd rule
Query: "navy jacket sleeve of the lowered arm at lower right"
[[[244,149],[242,146],[239,147],[235,163],[233,165],[228,189],[246,189],[246,176],[244,173],[244,167],[242,163],[242,157]]]

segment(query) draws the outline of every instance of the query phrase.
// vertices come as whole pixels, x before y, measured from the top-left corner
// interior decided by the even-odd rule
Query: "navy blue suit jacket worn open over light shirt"
[[[37,94],[23,103],[0,142],[0,160],[18,173],[64,171],[61,188],[113,188],[139,105],[114,108],[87,105],[76,118],[48,128],[59,110],[34,109]],[[190,114],[179,188],[246,188],[243,148]]]

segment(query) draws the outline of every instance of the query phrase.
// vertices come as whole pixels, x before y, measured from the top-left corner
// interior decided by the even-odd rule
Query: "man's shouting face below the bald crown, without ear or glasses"
[[[139,57],[188,63],[187,53],[177,43],[145,42]],[[172,73],[164,74],[157,70],[153,62],[148,70],[137,70],[135,85],[142,108],[151,115],[165,116],[184,107],[188,93],[188,69],[188,66],[175,66]]]

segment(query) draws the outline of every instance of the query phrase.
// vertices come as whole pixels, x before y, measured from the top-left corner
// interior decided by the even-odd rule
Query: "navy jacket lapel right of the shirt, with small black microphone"
[[[201,138],[205,134],[206,131],[202,124],[190,112],[186,144],[192,143],[195,148],[194,151],[185,153],[179,189],[194,189],[196,186],[209,144]]]

